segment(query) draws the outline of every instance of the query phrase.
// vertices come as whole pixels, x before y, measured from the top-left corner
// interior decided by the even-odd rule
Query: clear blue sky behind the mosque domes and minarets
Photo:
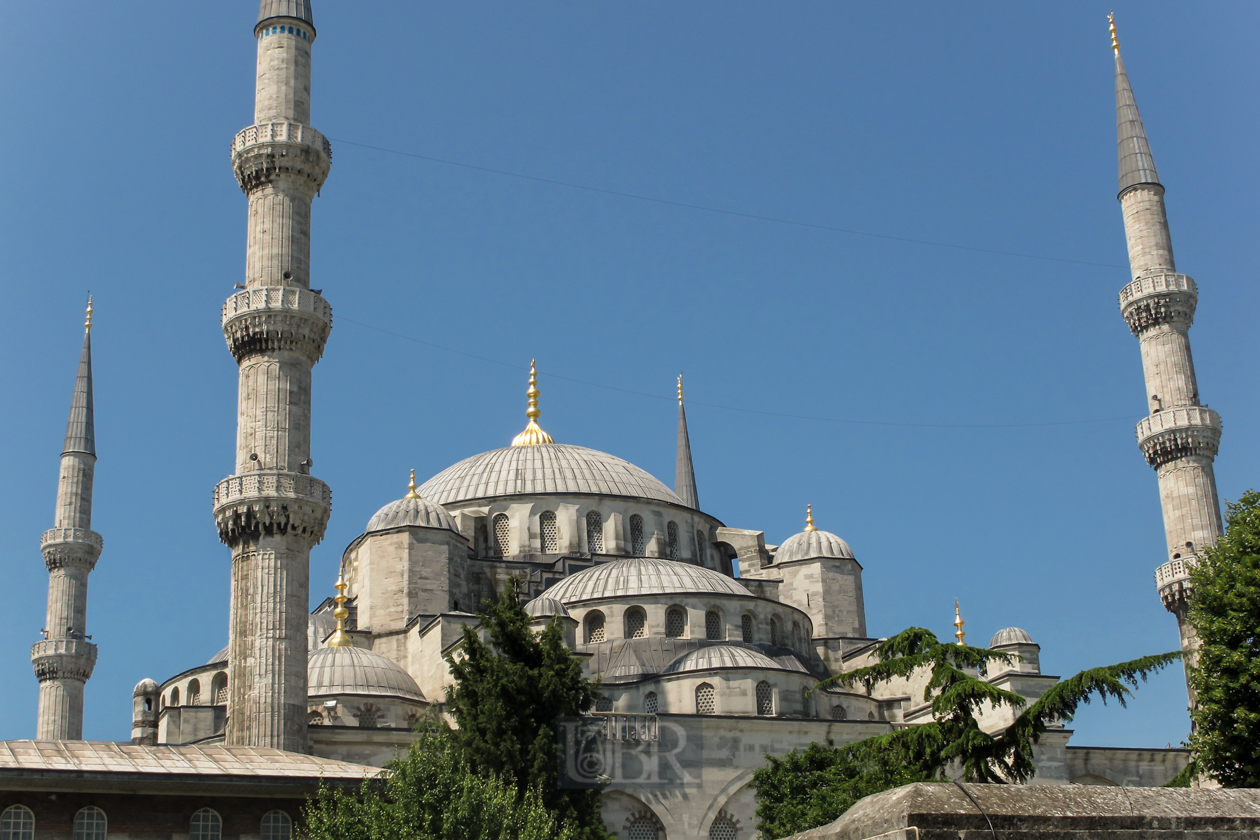
[[[218,312],[243,277],[228,144],[253,113],[256,9],[0,4],[0,738],[34,733],[39,535],[88,290],[106,549],[86,735],[129,738],[137,680],[226,642],[210,490],[233,466],[237,368]],[[314,472],[335,502],[312,599],[408,468],[520,431],[537,356],[547,431],[667,482],[685,370],[702,506],[780,543],[813,502],[866,569],[873,635],[949,633],[958,598],[970,641],[1024,627],[1051,674],[1176,649],[1116,306],[1106,11],[316,0],[312,122],[334,165],[312,283],[338,320],[315,370]],[[1200,282],[1200,389],[1236,499],[1260,431],[1260,6],[1116,18],[1178,267]],[[1176,744],[1184,705],[1163,675],[1125,712],[1087,708],[1074,743]]]

